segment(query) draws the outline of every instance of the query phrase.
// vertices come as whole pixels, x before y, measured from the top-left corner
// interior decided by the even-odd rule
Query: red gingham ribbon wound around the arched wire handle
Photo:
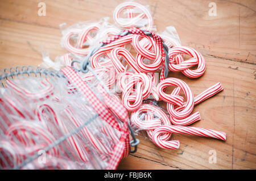
[[[147,30],[142,31],[142,30],[139,30],[139,29],[136,29],[136,28],[123,30],[122,32],[125,32],[125,31],[128,31],[131,34],[145,35],[145,36],[146,36],[146,34],[144,32],[150,32],[150,31],[147,31]],[[163,44],[162,44],[161,37],[159,35],[157,35],[156,33],[154,33],[154,32],[150,32],[150,33],[152,35],[152,39],[155,41],[156,45],[158,45],[158,47],[160,49],[160,52],[161,52],[163,67],[162,67],[162,71],[161,71],[161,74],[160,74],[160,81],[163,81],[165,79],[165,77],[164,77],[164,69],[165,69],[164,57],[166,56],[166,53],[164,53],[164,50],[163,50]],[[119,39],[123,36],[126,36],[126,35],[113,35],[113,36],[108,37],[108,39],[102,41],[102,43],[109,44],[109,43],[112,43],[113,41],[115,41],[115,40],[117,40],[117,39]]]

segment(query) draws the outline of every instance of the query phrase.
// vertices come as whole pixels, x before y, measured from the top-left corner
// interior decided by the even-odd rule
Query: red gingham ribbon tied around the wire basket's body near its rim
[[[108,107],[106,107],[101,102],[101,100],[97,98],[97,96],[93,93],[93,91],[90,90],[90,88],[86,85],[84,81],[82,81],[82,78],[80,77],[80,75],[77,74],[77,72],[71,66],[66,66],[65,68],[61,69],[61,71],[69,79],[69,81],[77,87],[77,90],[80,91],[83,95],[85,95],[85,98],[88,100],[88,102],[93,107],[93,109],[98,113],[101,119],[109,123],[109,125],[111,125],[114,129],[117,129],[118,131],[122,132],[118,144],[115,145],[108,167],[106,167],[106,169],[116,169],[121,158],[129,154],[129,150],[130,150],[129,129],[127,125],[128,115],[127,115],[127,112],[123,111],[123,109],[125,108],[122,108],[119,106],[121,103],[118,104],[117,99],[112,99],[109,96],[109,94],[107,94],[106,92],[104,93],[104,95],[107,95],[108,100],[109,99],[112,100],[113,102],[113,104],[111,104],[113,106],[112,108],[118,109],[123,114],[121,117],[123,117],[125,120],[122,120],[123,125],[122,127],[120,127],[113,113],[110,112]]]

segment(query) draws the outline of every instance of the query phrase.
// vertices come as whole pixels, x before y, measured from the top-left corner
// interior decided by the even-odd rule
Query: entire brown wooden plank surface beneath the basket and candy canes
[[[112,17],[123,1],[44,0],[46,16],[38,16],[39,2],[0,1],[0,68],[39,65],[42,45],[54,60],[65,52],[60,23]],[[123,159],[119,169],[256,169],[256,1],[214,0],[217,16],[209,16],[209,2],[147,3],[158,31],[174,26],[181,44],[199,50],[207,62],[207,71],[198,79],[181,73],[169,77],[183,79],[195,95],[222,83],[224,91],[195,107],[201,121],[193,126],[224,131],[227,140],[174,134],[180,149],[163,150],[138,136],[137,153]],[[217,163],[209,163],[210,150],[216,150]]]

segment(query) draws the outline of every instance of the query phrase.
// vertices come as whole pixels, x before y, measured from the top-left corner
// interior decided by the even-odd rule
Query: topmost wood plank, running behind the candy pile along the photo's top
[[[48,0],[44,1],[46,16],[38,16],[39,2],[1,1],[0,18],[58,29],[63,22],[71,25],[79,21],[97,21],[104,16],[112,19],[115,6],[123,1]],[[151,0],[144,4],[150,5],[158,31],[174,26],[183,45],[196,48],[205,55],[255,64],[255,1],[214,2],[217,5],[217,16],[209,16],[209,2],[203,0]]]

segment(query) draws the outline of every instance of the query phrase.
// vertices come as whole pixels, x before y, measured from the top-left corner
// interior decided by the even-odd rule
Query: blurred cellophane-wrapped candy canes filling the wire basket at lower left
[[[5,71],[0,77],[0,169],[108,167],[122,132],[102,120],[75,85],[51,70]],[[104,103],[93,80],[86,85]]]

